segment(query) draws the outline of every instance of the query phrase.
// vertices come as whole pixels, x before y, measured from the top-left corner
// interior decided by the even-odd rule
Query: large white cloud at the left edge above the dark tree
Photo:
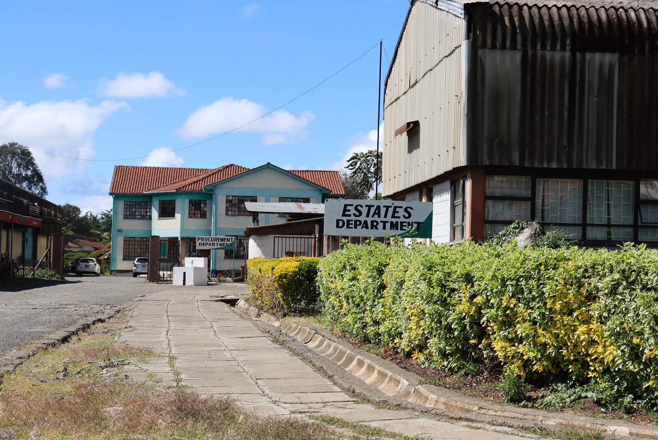
[[[94,132],[115,111],[129,108],[124,102],[111,100],[98,105],[90,105],[88,99],[41,101],[30,105],[0,99],[0,133],[34,148],[32,153],[45,179],[59,179],[71,171],[82,169],[86,164],[36,150],[90,159],[95,155]]]

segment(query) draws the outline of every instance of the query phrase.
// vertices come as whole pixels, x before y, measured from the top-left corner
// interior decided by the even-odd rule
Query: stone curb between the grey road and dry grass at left
[[[16,370],[16,367],[26,362],[26,360],[37,354],[40,350],[63,344],[76,333],[88,329],[95,323],[107,321],[107,319],[110,319],[124,309],[126,309],[126,307],[111,308],[107,310],[106,314],[84,319],[76,324],[64,327],[53,335],[48,335],[43,339],[39,339],[39,341],[23,347],[17,352],[8,354],[4,358],[0,358],[0,385],[2,385],[3,375],[6,373],[13,373],[14,370]]]

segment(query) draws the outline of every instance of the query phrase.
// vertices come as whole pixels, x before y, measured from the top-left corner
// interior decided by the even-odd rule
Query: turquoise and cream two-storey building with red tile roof
[[[179,261],[205,256],[197,252],[197,236],[235,236],[236,250],[211,251],[211,269],[239,269],[246,258],[243,232],[253,225],[245,202],[324,203],[344,192],[338,171],[284,170],[269,162],[253,169],[117,165],[110,186],[111,270],[130,271],[136,258],[148,256],[151,235],[160,236],[161,257]],[[258,214],[259,225],[285,220]]]

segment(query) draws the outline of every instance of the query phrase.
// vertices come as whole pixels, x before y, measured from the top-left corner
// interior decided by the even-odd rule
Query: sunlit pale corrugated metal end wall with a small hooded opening
[[[413,4],[385,84],[385,196],[464,164],[465,32],[463,18]],[[394,132],[410,121],[420,148],[408,150],[407,134]]]

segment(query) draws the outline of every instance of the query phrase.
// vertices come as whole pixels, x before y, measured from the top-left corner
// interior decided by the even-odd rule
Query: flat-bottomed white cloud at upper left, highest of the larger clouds
[[[101,80],[100,93],[112,97],[167,97],[185,94],[160,72],[146,75],[120,72],[111,81]]]

